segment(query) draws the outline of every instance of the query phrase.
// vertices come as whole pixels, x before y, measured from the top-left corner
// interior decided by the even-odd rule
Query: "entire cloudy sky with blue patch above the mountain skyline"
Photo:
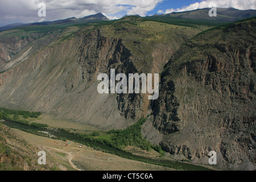
[[[12,23],[32,23],[67,19],[102,13],[109,19],[124,15],[150,16],[190,11],[209,7],[233,7],[240,10],[256,9],[256,0],[0,0],[0,26]],[[46,16],[39,16],[46,5]],[[42,11],[40,11],[42,12]]]

